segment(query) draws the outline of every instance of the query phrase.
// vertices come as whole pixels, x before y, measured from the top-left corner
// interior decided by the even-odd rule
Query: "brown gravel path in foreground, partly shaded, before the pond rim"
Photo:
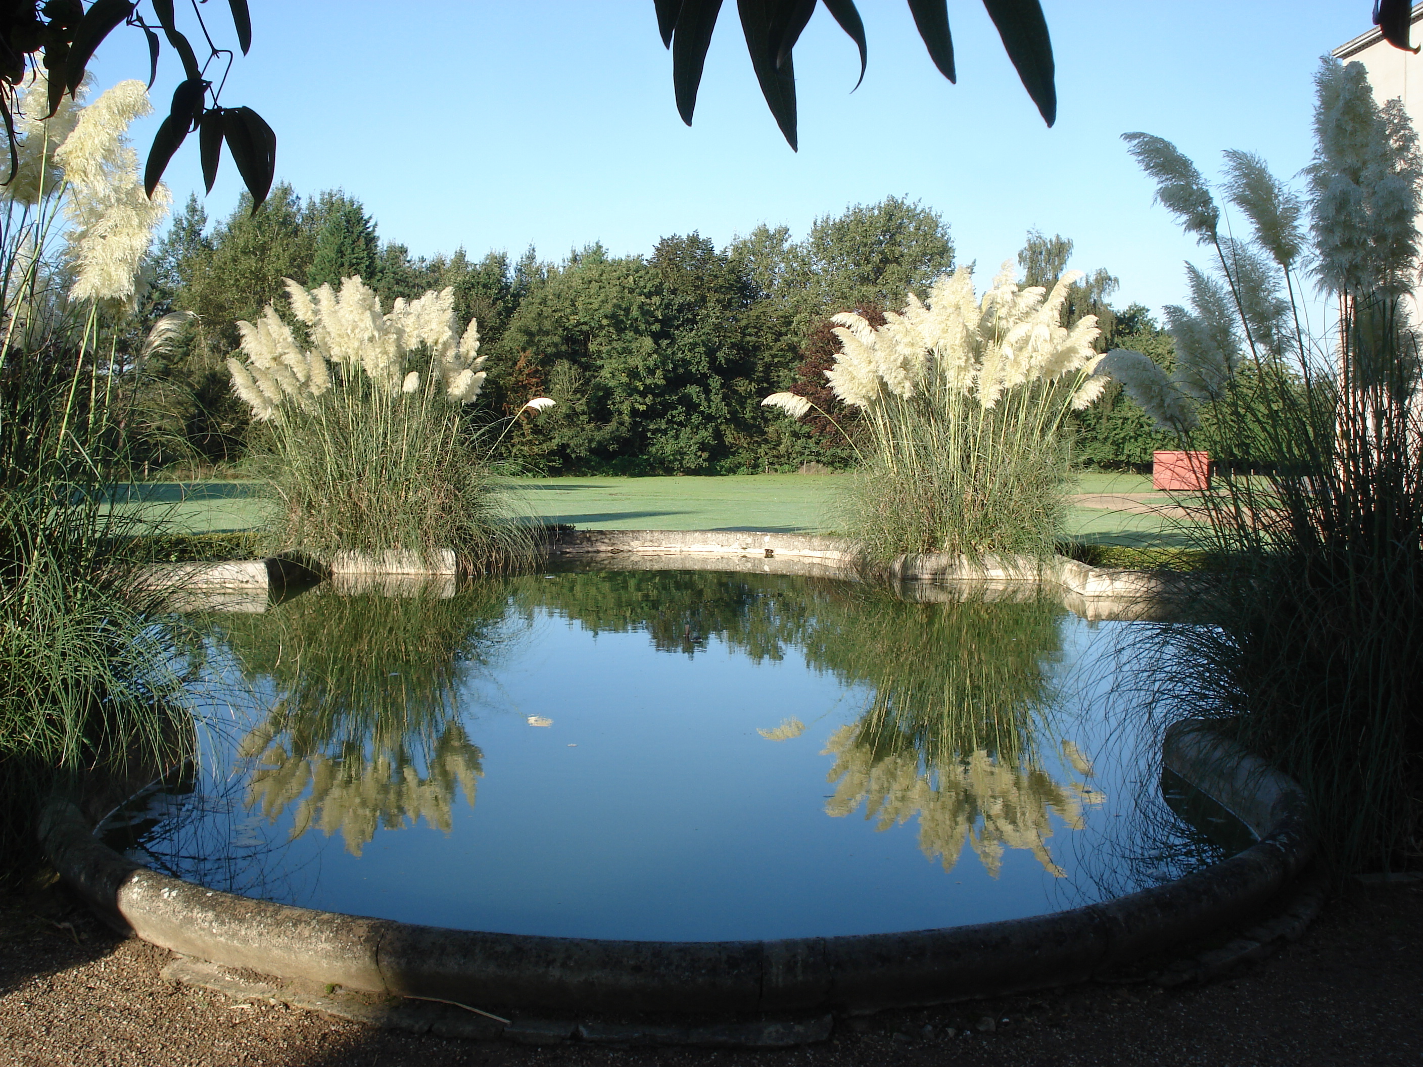
[[[1081,986],[884,1013],[778,1053],[448,1041],[290,1007],[238,1004],[158,976],[60,888],[0,896],[0,1064],[1023,1064],[1251,1067],[1423,1063],[1423,885],[1353,888],[1272,959],[1202,987]],[[983,1019],[995,1021],[985,1033]],[[972,1030],[949,1034],[949,1030]]]

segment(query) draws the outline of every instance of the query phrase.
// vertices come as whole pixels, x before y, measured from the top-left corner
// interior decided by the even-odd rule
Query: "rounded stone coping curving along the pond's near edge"
[[[41,842],[108,922],[215,963],[354,990],[555,1012],[795,1012],[943,1003],[1059,986],[1242,919],[1309,861],[1298,785],[1190,721],[1165,763],[1220,788],[1261,839],[1167,885],[1054,915],[766,942],[541,938],[334,915],[203,889],[101,844],[51,801]]]

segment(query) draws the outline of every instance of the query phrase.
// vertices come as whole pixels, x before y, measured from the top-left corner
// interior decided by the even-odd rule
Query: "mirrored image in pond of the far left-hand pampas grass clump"
[[[458,792],[472,805],[482,774],[458,696],[499,640],[502,593],[320,590],[215,622],[246,680],[276,689],[239,747],[258,764],[248,805],[273,822],[293,809],[293,837],[340,831],[357,855],[380,827],[448,829]]]

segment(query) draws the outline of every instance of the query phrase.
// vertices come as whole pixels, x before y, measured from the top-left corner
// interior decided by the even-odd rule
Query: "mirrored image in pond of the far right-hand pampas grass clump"
[[[821,627],[807,650],[837,674],[874,684],[859,721],[837,730],[830,815],[861,805],[881,829],[919,817],[919,848],[952,869],[965,842],[998,875],[1005,848],[1030,851],[1060,876],[1047,851],[1049,812],[1083,824],[1101,795],[1059,784],[1043,767],[1037,734],[1053,700],[1046,662],[1060,654],[1062,609],[1023,603],[906,603],[875,598],[858,625]],[[1067,763],[1091,765],[1070,741]]]

